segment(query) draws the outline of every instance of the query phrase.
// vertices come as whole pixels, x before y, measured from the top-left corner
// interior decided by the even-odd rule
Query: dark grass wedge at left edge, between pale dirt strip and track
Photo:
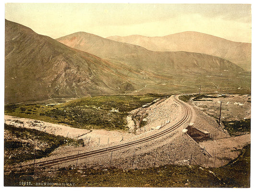
[[[83,140],[55,136],[36,129],[4,125],[8,136],[4,138],[4,165],[47,157],[54,149],[63,145],[83,145]],[[42,146],[43,144],[43,146]],[[40,148],[41,147],[41,148]]]

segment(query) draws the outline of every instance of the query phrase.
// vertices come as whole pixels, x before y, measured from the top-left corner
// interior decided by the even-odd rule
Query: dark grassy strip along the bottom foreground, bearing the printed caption
[[[122,170],[116,168],[61,168],[37,172],[11,172],[4,176],[5,186],[21,186],[19,182],[31,182],[30,186],[86,187],[250,187],[250,145],[242,149],[241,155],[230,164],[220,168],[200,166],[166,165],[144,170]],[[47,185],[47,182],[53,182]],[[55,184],[54,184],[55,183]],[[57,184],[58,183],[58,184]]]

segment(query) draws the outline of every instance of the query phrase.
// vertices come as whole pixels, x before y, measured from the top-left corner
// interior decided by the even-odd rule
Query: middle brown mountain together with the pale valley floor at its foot
[[[197,92],[200,84],[205,91],[221,91],[219,88],[222,88],[236,92],[237,88],[242,88],[240,91],[250,92],[250,73],[244,74],[242,68],[219,57],[192,52],[150,51],[85,32],[57,40],[122,65],[121,68],[134,69],[138,76],[142,76],[134,83],[144,86],[133,93]]]

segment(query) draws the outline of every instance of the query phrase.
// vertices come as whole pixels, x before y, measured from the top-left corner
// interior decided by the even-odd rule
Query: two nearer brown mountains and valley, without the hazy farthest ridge
[[[151,51],[85,32],[54,40],[5,20],[5,103],[250,87],[244,73],[202,53]]]

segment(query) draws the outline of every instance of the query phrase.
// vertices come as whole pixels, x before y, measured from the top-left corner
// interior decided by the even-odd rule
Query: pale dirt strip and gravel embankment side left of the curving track
[[[122,131],[107,131],[107,130],[86,130],[73,128],[66,125],[52,124],[44,121],[37,121],[34,119],[13,117],[5,115],[5,123],[8,125],[26,127],[41,130],[49,134],[55,134],[60,136],[68,136],[76,139],[84,139],[85,143],[89,143],[91,146],[98,148],[99,145],[118,144],[124,141],[131,141],[145,136],[149,136],[158,132],[154,129],[164,123],[167,123],[167,119],[170,124],[177,122],[182,117],[180,112],[181,107],[173,101],[172,97],[163,99],[155,104],[143,108],[143,113],[147,113],[147,125],[143,129],[138,129],[136,135],[130,132]],[[137,111],[137,110],[136,110]],[[179,114],[179,116],[178,116]],[[129,126],[134,128],[132,120],[129,121]],[[170,125],[168,124],[168,125]],[[140,131],[139,131],[140,130]]]

